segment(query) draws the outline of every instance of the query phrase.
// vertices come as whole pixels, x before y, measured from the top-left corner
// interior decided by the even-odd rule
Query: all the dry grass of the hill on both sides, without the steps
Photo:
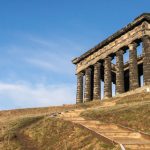
[[[0,149],[118,149],[117,145],[107,143],[77,124],[50,117],[51,113],[75,109],[84,109],[80,115],[86,119],[150,134],[150,94],[141,93],[81,105],[1,111]]]

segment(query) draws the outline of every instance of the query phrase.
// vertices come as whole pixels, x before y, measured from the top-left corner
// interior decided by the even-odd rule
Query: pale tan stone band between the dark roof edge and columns
[[[104,59],[108,55],[117,52],[119,49],[127,47],[134,40],[141,39],[144,35],[147,34],[150,34],[150,25],[148,26],[147,22],[143,22],[140,26],[122,35],[115,41],[110,42],[108,45],[104,46],[97,52],[94,52],[90,56],[77,63],[76,73],[79,73],[88,66],[95,64],[97,61],[99,61],[99,59]]]

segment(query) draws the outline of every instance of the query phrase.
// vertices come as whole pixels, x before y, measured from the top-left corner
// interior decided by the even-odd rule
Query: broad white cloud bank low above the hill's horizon
[[[0,83],[0,106],[5,109],[23,107],[43,107],[52,105],[71,104],[75,102],[75,86],[43,84],[30,85],[27,83]],[[2,108],[2,103],[4,108]],[[8,106],[7,106],[8,108]]]

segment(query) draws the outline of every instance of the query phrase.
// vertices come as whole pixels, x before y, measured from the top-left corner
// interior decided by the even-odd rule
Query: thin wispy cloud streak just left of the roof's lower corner
[[[71,63],[71,59],[69,58],[62,54],[42,54],[41,56],[37,55],[25,58],[25,61],[29,65],[32,65],[42,70],[59,73],[60,75],[71,75],[74,72],[74,66]]]

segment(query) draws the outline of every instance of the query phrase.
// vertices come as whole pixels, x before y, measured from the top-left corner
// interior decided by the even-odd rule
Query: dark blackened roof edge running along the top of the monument
[[[143,21],[150,22],[150,13],[143,13],[143,14],[141,14],[140,16],[138,16],[137,18],[135,18],[131,23],[129,23],[124,28],[120,29],[119,31],[117,31],[113,35],[109,36],[107,39],[105,39],[104,41],[100,42],[98,45],[96,45],[95,47],[91,48],[90,50],[88,50],[87,52],[85,52],[84,54],[82,54],[81,56],[79,56],[77,58],[74,58],[72,60],[73,64],[79,63],[81,60],[83,60],[84,58],[88,57],[92,53],[98,51],[100,48],[104,47],[108,43],[112,42],[116,38],[118,38],[121,35],[123,35],[124,33],[132,30],[134,27],[138,26]]]

